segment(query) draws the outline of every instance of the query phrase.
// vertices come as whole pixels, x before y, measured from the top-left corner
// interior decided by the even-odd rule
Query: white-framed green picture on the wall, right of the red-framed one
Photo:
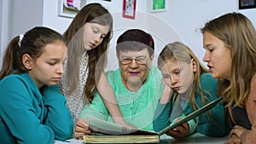
[[[149,13],[164,12],[167,10],[168,0],[147,0]]]

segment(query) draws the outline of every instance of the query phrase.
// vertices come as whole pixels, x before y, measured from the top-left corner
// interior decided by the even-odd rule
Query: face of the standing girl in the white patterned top
[[[86,22],[84,25],[84,49],[95,49],[108,35],[109,26]]]

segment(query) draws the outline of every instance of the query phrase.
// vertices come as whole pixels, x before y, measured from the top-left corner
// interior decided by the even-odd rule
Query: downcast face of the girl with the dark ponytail
[[[29,71],[35,84],[41,88],[44,84],[55,85],[61,80],[63,61],[66,59],[67,46],[61,41],[45,45],[42,55],[32,60]]]

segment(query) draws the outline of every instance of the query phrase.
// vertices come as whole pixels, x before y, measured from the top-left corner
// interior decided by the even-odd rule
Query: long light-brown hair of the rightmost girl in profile
[[[218,95],[224,97],[226,107],[245,107],[256,72],[256,32],[252,22],[243,14],[229,13],[207,22],[201,32],[218,37],[230,49],[231,80],[218,80]]]

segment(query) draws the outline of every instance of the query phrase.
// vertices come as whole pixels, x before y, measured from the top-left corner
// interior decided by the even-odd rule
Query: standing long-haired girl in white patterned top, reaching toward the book
[[[119,112],[104,73],[112,32],[113,18],[108,9],[99,3],[90,3],[79,11],[63,34],[67,41],[67,61],[59,86],[67,97],[74,122],[79,120],[82,108],[93,100],[93,92],[98,89],[114,122],[130,126]]]

